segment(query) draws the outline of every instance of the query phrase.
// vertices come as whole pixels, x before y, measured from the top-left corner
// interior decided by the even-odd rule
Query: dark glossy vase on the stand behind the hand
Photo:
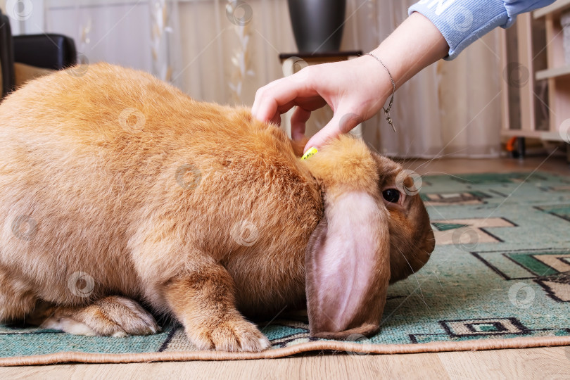
[[[338,51],[346,0],[288,0],[297,49],[302,53]]]

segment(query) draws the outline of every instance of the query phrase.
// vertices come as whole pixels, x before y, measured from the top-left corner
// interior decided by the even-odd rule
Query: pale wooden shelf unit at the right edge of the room
[[[560,15],[566,10],[570,0],[558,0],[518,15],[517,23],[502,31],[502,135],[564,141],[559,128],[570,119],[570,62],[564,60]],[[512,65],[528,80],[513,85],[507,72]]]

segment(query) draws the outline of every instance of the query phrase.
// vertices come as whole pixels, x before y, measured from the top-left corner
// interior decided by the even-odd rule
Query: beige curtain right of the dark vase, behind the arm
[[[348,0],[346,49],[374,49],[407,18],[415,1]],[[372,31],[372,32],[371,32]],[[364,138],[388,156],[494,157],[500,153],[498,31],[475,42],[454,61],[424,69],[396,92],[393,133],[383,113],[365,122]]]

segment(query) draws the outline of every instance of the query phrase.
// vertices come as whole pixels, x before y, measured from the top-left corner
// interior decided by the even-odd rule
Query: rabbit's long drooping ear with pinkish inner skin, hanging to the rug
[[[327,193],[305,252],[310,334],[346,338],[379,330],[390,279],[388,212],[367,191]]]

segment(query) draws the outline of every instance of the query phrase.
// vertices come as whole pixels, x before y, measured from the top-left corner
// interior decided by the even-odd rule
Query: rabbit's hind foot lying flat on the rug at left
[[[82,308],[57,308],[42,327],[77,335],[151,335],[160,331],[153,316],[134,300],[111,296]]]

